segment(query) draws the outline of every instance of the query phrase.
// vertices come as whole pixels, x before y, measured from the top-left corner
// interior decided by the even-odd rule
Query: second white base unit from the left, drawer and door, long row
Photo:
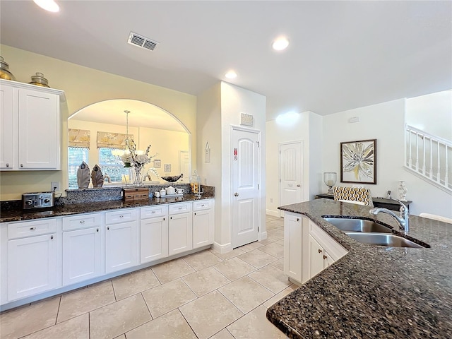
[[[100,213],[63,218],[63,285],[104,273]]]

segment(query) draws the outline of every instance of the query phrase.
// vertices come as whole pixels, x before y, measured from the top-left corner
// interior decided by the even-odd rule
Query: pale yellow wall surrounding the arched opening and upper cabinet
[[[191,166],[196,168],[196,97],[149,83],[134,81],[111,73],[89,69],[66,61],[45,57],[6,45],[1,56],[17,81],[28,83],[36,72],[44,73],[52,88],[64,90],[67,111],[61,115],[61,171],[1,172],[0,199],[20,199],[21,194],[49,191],[50,182],[67,187],[67,117],[95,102],[109,99],[134,99],[149,102],[174,114],[191,133]]]

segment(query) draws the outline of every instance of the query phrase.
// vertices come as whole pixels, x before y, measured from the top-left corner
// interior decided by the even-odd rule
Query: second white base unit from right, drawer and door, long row
[[[169,205],[168,255],[193,249],[191,203]]]

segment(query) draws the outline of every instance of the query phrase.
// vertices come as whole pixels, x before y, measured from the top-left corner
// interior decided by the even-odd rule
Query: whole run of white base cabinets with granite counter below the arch
[[[174,186],[189,191],[188,184]],[[201,197],[155,198],[150,193],[130,202],[121,200],[121,191],[68,190],[64,205],[31,212],[17,208],[20,201],[10,208],[2,203],[1,311],[213,244],[213,187],[205,186]]]

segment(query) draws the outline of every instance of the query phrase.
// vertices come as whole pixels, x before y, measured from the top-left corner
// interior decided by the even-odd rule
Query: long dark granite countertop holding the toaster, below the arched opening
[[[214,198],[213,194],[204,194],[198,198],[194,194],[184,194],[172,198],[149,198],[148,200],[126,202],[122,200],[114,201],[97,201],[89,203],[66,203],[64,206],[55,206],[46,210],[30,210],[24,211],[21,209],[1,210],[0,222],[11,222],[20,220],[32,220],[39,218],[61,217],[64,215],[73,215],[81,213],[93,213],[101,210],[115,210],[118,208],[134,208],[155,206],[166,203],[183,203],[187,201],[197,201]]]

